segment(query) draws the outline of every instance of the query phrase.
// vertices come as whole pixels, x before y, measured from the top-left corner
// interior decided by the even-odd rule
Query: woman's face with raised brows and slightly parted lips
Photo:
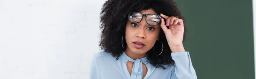
[[[142,14],[157,14],[153,9],[140,11]],[[160,23],[158,25],[148,25],[145,16],[140,23],[131,23],[127,20],[125,30],[126,50],[134,54],[145,54],[153,48],[160,32]]]

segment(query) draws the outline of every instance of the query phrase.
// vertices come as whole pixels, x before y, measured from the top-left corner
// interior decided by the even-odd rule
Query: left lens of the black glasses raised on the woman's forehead
[[[128,18],[132,23],[139,23],[140,20],[142,19],[142,14],[133,12],[129,14]]]

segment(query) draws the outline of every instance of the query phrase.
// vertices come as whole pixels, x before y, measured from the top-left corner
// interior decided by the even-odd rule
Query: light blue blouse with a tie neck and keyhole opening
[[[148,62],[146,57],[131,59],[122,53],[118,60],[110,53],[101,51],[94,55],[90,66],[90,79],[142,79],[144,63],[148,69],[144,79],[197,79],[192,66],[189,52],[172,53],[175,66],[164,65],[166,69],[156,68]],[[127,62],[134,62],[131,75],[127,69]]]

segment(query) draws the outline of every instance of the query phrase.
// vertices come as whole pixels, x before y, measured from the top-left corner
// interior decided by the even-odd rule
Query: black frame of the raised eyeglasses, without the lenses
[[[146,23],[147,23],[148,25],[151,25],[151,24],[149,24],[149,23],[147,22],[147,16],[148,16],[148,15],[156,15],[156,16],[160,17],[160,18],[159,18],[159,22],[157,23],[157,25],[160,23],[160,20],[161,20],[161,18],[162,18],[162,16],[157,15],[157,14],[142,14],[142,13],[140,13],[140,12],[131,12],[131,13],[129,13],[129,15],[128,15],[128,19],[130,18],[130,15],[131,15],[131,14],[134,14],[134,13],[139,13],[139,14],[142,15],[142,16],[141,16],[141,19],[140,19],[140,22],[142,21],[143,16],[145,16],[145,21],[146,21]],[[130,19],[129,19],[129,21],[131,22]],[[140,22],[137,22],[137,23],[140,23]],[[135,22],[131,22],[131,23],[135,23]]]

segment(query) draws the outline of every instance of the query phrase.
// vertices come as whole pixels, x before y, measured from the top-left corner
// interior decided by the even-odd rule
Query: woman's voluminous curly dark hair
[[[150,8],[154,9],[158,15],[162,13],[167,16],[177,16],[185,22],[184,17],[181,15],[173,0],[108,0],[102,6],[102,11],[100,13],[100,30],[102,30],[101,40],[99,42],[100,48],[105,52],[111,53],[111,55],[116,57],[116,59],[119,59],[119,56],[126,48],[122,48],[121,39],[125,34],[128,14],[133,11],[140,12]],[[147,51],[147,59],[149,60],[149,63],[156,68],[165,69],[164,65],[171,66],[174,65],[175,62],[172,59],[172,51],[169,48],[166,36],[162,29],[160,31],[159,38],[160,41],[163,42],[163,53],[156,56],[153,53],[153,50],[150,49]],[[183,42],[185,41],[185,38],[186,26],[184,25]],[[126,42],[124,44],[126,44]],[[156,49],[162,50],[162,46],[154,47],[154,50]]]

